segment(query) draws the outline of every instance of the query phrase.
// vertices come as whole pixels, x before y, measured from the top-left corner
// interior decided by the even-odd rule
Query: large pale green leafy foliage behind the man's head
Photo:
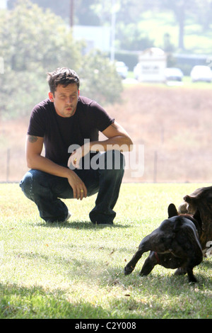
[[[57,67],[80,72],[81,81],[87,82],[86,93],[95,97],[93,91],[98,91],[99,103],[116,101],[122,86],[116,70],[108,59],[101,60],[100,54],[92,59],[83,57],[82,47],[83,43],[73,40],[71,29],[59,16],[29,0],[18,0],[12,10],[0,11],[0,49],[4,58],[1,116],[26,115],[35,103],[47,98],[46,73]],[[107,74],[110,82],[105,81]]]

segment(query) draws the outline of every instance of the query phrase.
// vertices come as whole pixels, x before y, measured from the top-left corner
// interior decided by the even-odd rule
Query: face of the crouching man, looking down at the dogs
[[[58,115],[69,118],[76,111],[78,94],[78,86],[76,84],[69,84],[66,87],[59,84],[54,95],[51,92],[49,93],[49,99],[54,102],[54,108]]]

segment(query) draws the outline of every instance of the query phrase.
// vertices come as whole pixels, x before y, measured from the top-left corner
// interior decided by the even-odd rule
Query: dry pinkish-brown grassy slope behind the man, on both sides
[[[107,111],[128,130],[137,157],[139,147],[144,147],[143,176],[135,178],[132,169],[127,168],[124,181],[212,180],[209,85],[208,89],[128,86],[124,89],[123,102],[107,107]],[[0,181],[19,181],[27,170],[24,156],[27,127],[28,118],[1,123]]]

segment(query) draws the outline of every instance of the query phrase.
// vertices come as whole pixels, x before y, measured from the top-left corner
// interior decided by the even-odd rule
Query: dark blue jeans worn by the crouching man
[[[114,163],[119,159],[119,168]],[[119,189],[124,176],[124,155],[117,150],[100,154],[104,168],[74,169],[88,190],[88,196],[98,193],[95,207],[90,211],[91,222],[112,222],[116,213],[113,208],[119,196]],[[112,160],[109,169],[107,161]],[[20,181],[20,187],[27,198],[35,202],[40,218],[46,222],[63,221],[68,208],[61,199],[73,198],[73,190],[66,178],[31,169]]]

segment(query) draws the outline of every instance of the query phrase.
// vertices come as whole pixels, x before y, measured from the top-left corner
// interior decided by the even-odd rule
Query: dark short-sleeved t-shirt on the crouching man
[[[70,118],[57,114],[54,103],[45,99],[31,113],[28,135],[44,137],[45,157],[57,164],[67,164],[71,145],[84,145],[84,140],[97,141],[98,132],[114,122],[95,101],[79,96],[76,112]]]

